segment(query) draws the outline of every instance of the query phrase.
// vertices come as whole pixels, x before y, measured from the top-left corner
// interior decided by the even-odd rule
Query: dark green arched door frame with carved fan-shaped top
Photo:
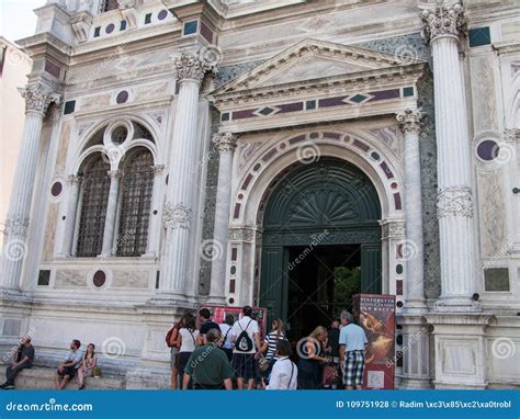
[[[286,318],[289,247],[361,245],[361,292],[381,293],[381,204],[370,179],[332,158],[292,168],[265,205],[260,305]]]

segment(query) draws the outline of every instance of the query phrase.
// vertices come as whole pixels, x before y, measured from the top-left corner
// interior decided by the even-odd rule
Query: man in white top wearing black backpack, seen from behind
[[[252,308],[245,306],[242,318],[235,322],[231,330],[233,367],[237,377],[238,389],[244,388],[244,380],[248,382],[248,389],[255,386],[257,360],[260,355],[260,328],[257,320],[251,318]]]

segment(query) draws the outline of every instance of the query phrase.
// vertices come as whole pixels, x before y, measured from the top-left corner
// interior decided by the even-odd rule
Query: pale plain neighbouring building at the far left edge
[[[27,83],[31,58],[16,45],[0,36],[0,231],[8,216],[11,184],[16,168],[25,120],[25,101],[18,89]],[[0,252],[3,240],[0,240]]]

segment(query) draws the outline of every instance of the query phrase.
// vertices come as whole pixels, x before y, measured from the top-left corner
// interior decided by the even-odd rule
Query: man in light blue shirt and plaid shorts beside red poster
[[[346,388],[361,389],[363,386],[364,350],[369,341],[363,328],[353,321],[349,312],[341,312],[343,327],[339,333],[339,354]]]

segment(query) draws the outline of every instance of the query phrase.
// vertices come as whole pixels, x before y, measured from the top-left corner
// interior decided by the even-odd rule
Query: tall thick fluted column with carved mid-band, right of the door
[[[461,4],[438,5],[421,18],[433,56],[441,256],[438,307],[465,310],[475,292],[471,154],[459,58],[465,20]]]

